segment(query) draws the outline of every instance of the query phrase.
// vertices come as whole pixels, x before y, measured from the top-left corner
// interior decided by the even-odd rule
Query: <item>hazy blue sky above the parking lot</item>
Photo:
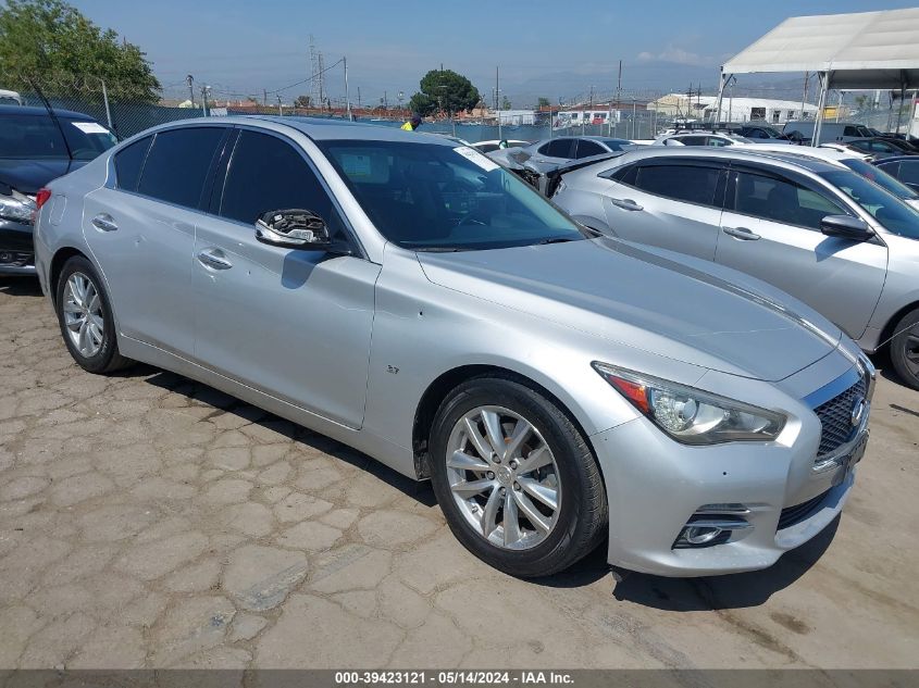
[[[623,89],[713,88],[718,66],[788,16],[907,8],[916,0],[724,0],[560,2],[544,0],[72,0],[103,27],[139,45],[166,95],[186,74],[219,98],[282,88],[305,79],[309,36],[330,65],[348,58],[351,98],[387,91],[408,98],[421,76],[444,64],[490,93],[518,100],[611,92],[619,60]],[[344,93],[340,67],[326,75]],[[308,85],[282,91],[285,100]],[[520,103],[523,104],[523,103]]]

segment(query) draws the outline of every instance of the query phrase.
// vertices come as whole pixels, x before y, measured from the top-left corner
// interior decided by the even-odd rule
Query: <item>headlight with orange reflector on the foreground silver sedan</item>
[[[642,373],[594,362],[594,370],[661,430],[685,445],[772,441],[785,416]]]

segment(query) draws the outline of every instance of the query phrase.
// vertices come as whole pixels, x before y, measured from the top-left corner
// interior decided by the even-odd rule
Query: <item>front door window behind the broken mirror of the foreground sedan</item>
[[[251,225],[272,210],[311,210],[341,229],[332,199],[303,157],[275,136],[243,132],[233,149],[220,214]]]

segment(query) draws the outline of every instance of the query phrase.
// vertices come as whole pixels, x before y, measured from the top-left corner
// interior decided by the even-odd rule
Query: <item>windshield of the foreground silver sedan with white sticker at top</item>
[[[474,250],[580,240],[568,217],[479,152],[396,141],[316,141],[388,240]]]

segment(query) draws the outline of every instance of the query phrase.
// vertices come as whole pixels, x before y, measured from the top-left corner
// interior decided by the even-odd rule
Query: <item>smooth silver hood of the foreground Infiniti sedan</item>
[[[841,332],[762,283],[610,239],[418,253],[434,284],[715,371],[783,379]]]

